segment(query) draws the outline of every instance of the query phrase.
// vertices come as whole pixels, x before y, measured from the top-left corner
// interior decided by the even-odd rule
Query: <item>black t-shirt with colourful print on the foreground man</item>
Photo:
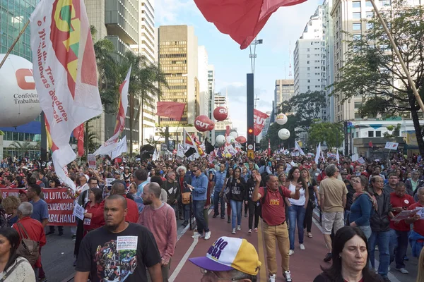
[[[147,282],[146,267],[160,263],[155,238],[136,223],[120,233],[105,227],[89,232],[79,250],[76,271],[90,271],[91,281]]]

